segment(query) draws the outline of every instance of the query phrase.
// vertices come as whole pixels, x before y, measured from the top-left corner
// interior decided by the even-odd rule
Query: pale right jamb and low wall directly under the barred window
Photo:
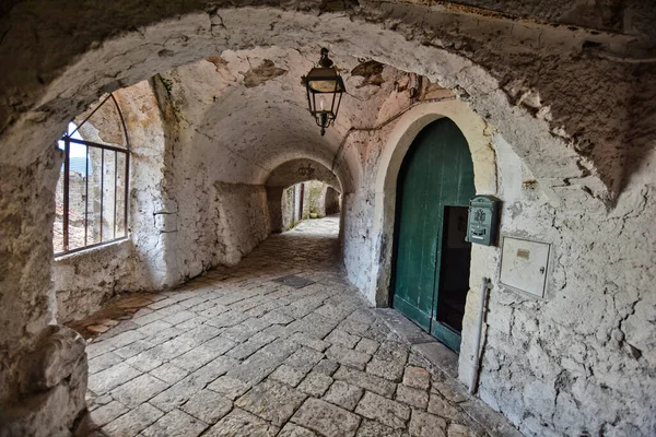
[[[51,292],[57,299],[59,322],[83,318],[124,292],[161,290],[176,284],[171,283],[172,272],[162,250],[166,231],[162,212],[167,199],[166,139],[160,107],[147,81],[115,94],[131,141],[130,232],[124,241],[55,259]],[[117,116],[105,114],[102,119],[107,121],[108,130],[101,133],[122,129]],[[118,141],[124,142],[122,138]]]

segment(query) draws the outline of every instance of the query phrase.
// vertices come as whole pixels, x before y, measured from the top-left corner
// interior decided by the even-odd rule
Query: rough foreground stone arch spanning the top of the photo
[[[308,44],[454,88],[553,189],[576,185],[611,200],[628,165],[648,153],[651,119],[643,115],[654,103],[643,96],[654,82],[654,40],[651,22],[634,17],[644,11],[639,0],[465,2],[511,15],[415,0],[116,2],[89,5],[84,16],[72,0],[58,3],[57,14],[35,3],[12,2],[0,19],[0,57],[14,67],[0,71],[0,135],[21,145],[0,150],[0,163],[33,163],[103,92],[226,50]],[[618,138],[635,146],[619,150]]]

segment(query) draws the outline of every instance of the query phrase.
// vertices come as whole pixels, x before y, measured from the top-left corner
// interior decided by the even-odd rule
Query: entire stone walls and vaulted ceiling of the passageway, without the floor
[[[48,11],[31,10],[33,2],[13,2],[0,19],[0,56],[15,60],[0,73],[3,424],[23,434],[32,424],[45,435],[65,433],[84,409],[84,344],[54,323],[48,272],[61,156],[50,145],[87,104],[114,91],[141,141],[133,147],[133,231],[112,248],[126,262],[116,268],[107,251],[94,255],[92,270],[109,274],[110,288],[122,288],[117,274],[126,288],[155,291],[239,262],[270,234],[271,173],[312,160],[340,182],[349,280],[370,303],[385,305],[400,162],[418,129],[449,117],[468,140],[477,193],[504,200],[501,229],[555,249],[539,299],[503,285],[500,248],[472,249],[470,290],[481,276],[495,284],[481,398],[529,434],[544,424],[561,435],[654,427],[645,383],[653,306],[637,305],[653,300],[643,290],[654,276],[644,261],[653,239],[654,139],[645,128],[651,116],[634,116],[653,114],[656,81],[633,80],[655,74],[641,51],[649,48],[648,29],[636,36],[611,26],[612,34],[448,4],[204,10],[186,2],[174,11],[153,3],[152,14],[129,20],[121,4],[85,10],[106,20],[81,21],[79,5],[67,1],[54,21],[40,20]],[[537,17],[576,21],[561,12]],[[333,50],[350,90],[326,138],[305,113],[298,81],[319,44]],[[599,92],[605,86],[609,92]],[[469,296],[462,381],[479,347],[471,335],[479,310]],[[122,346],[143,340],[132,328]],[[582,346],[570,351],[572,343]],[[565,414],[571,405],[574,416]]]

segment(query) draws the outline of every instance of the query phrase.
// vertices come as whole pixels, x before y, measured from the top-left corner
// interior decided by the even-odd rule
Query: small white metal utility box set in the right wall
[[[551,245],[515,237],[503,237],[501,249],[502,285],[544,297]]]

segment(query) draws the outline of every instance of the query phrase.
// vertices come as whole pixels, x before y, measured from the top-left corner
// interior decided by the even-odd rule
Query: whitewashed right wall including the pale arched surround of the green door
[[[501,233],[550,243],[553,252],[546,298],[539,299],[499,284],[499,248],[473,246],[461,381],[468,385],[473,370],[480,281],[487,276],[494,288],[481,399],[527,435],[656,433],[649,394],[656,389],[656,295],[649,285],[656,275],[656,235],[649,225],[656,209],[653,149],[609,209],[579,187],[544,189],[514,144],[461,102],[419,105],[371,137],[364,184],[344,199],[351,281],[372,304],[388,304],[399,160],[421,128],[440,116],[456,121],[468,140],[477,192],[504,202]],[[547,160],[536,154],[534,161]]]

